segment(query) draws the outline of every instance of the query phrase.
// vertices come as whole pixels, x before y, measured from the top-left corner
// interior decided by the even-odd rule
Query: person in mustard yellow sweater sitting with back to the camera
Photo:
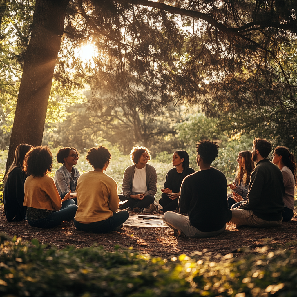
[[[77,181],[78,210],[74,225],[78,230],[94,233],[117,231],[129,217],[126,210],[117,212],[120,199],[116,181],[103,173],[110,158],[110,152],[103,146],[88,151],[86,159],[94,170],[83,173]]]

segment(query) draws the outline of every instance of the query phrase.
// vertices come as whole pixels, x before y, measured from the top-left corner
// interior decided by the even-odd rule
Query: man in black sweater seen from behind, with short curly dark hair
[[[197,165],[200,170],[184,178],[178,206],[184,216],[165,212],[164,220],[178,236],[211,237],[223,233],[232,213],[228,208],[227,180],[221,171],[211,167],[219,146],[210,140],[197,145]],[[209,206],[211,201],[212,207]]]

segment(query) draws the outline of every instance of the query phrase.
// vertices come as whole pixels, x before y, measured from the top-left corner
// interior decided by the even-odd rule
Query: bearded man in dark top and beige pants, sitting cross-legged
[[[285,186],[282,172],[269,159],[271,144],[266,139],[253,141],[252,159],[257,162],[252,171],[247,201],[232,209],[232,219],[237,225],[272,227],[282,225]],[[240,196],[233,193],[240,200]]]

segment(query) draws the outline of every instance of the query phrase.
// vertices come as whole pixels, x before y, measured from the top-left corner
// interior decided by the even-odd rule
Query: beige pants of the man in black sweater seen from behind
[[[173,211],[165,212],[164,221],[171,229],[182,231],[187,237],[212,237],[223,233],[226,229],[225,225],[217,231],[202,232],[190,224],[189,217]]]

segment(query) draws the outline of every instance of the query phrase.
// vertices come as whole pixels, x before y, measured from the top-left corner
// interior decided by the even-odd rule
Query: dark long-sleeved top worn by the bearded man
[[[247,201],[240,208],[252,210],[260,219],[279,221],[284,210],[285,185],[282,172],[268,159],[257,162],[251,174]]]

